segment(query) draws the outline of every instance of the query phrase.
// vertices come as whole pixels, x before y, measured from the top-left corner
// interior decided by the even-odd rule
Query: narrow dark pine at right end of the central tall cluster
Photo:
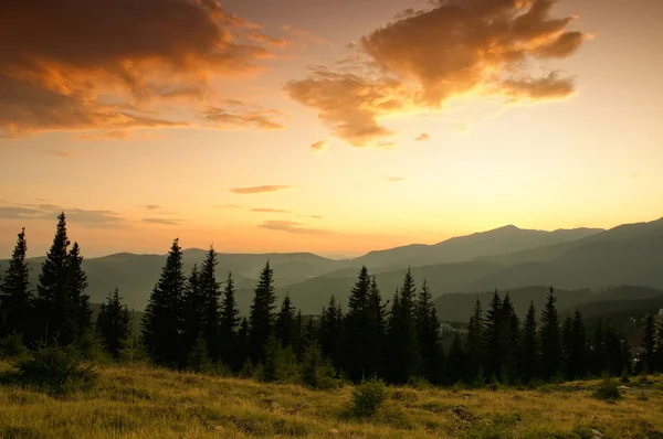
[[[414,324],[423,376],[433,384],[442,384],[444,381],[444,350],[440,345],[438,311],[425,279],[423,279],[414,304]]]

